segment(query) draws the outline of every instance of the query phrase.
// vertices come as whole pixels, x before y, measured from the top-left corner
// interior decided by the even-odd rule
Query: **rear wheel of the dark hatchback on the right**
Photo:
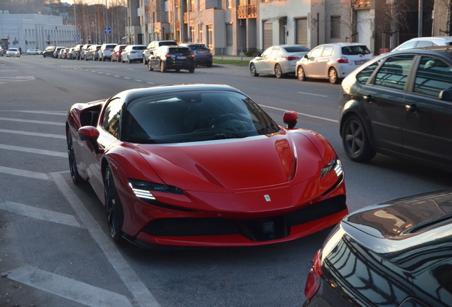
[[[375,156],[364,124],[356,115],[351,115],[348,119],[345,119],[342,129],[342,143],[345,154],[352,161],[365,162]]]

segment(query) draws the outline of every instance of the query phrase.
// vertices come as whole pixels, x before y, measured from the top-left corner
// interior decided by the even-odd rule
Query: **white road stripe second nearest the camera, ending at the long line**
[[[72,215],[36,208],[30,205],[23,205],[21,203],[13,203],[9,201],[0,203],[0,210],[13,212],[18,215],[25,215],[27,217],[34,217],[38,220],[46,220],[48,222],[56,222],[58,224],[81,228],[80,224]]]

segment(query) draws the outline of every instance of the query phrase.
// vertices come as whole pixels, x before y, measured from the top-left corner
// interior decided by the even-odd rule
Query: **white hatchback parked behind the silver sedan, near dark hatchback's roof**
[[[296,63],[298,80],[308,77],[328,79],[338,83],[344,77],[372,60],[374,55],[366,45],[361,43],[328,43],[318,45]]]

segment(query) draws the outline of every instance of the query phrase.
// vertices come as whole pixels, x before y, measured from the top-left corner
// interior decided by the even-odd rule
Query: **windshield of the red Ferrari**
[[[186,91],[129,102],[121,139],[141,144],[180,143],[273,134],[279,129],[264,110],[238,92]]]

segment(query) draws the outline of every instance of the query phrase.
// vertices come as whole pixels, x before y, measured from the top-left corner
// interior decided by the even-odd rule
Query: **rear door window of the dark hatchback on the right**
[[[414,55],[396,55],[388,58],[377,72],[375,85],[404,90]]]

